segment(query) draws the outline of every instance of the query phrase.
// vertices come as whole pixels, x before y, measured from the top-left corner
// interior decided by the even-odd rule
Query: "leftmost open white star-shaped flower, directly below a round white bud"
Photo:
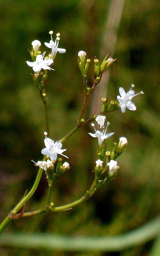
[[[33,71],[35,71],[35,72],[40,71],[42,68],[51,70],[52,68],[50,68],[48,66],[50,66],[53,63],[53,60],[52,59],[45,59],[44,60],[43,59],[44,54],[45,54],[45,52],[42,55],[38,54],[36,56],[36,61],[34,61],[34,62],[26,61],[27,65],[29,67],[32,67]],[[54,70],[54,69],[52,69],[52,70]]]

